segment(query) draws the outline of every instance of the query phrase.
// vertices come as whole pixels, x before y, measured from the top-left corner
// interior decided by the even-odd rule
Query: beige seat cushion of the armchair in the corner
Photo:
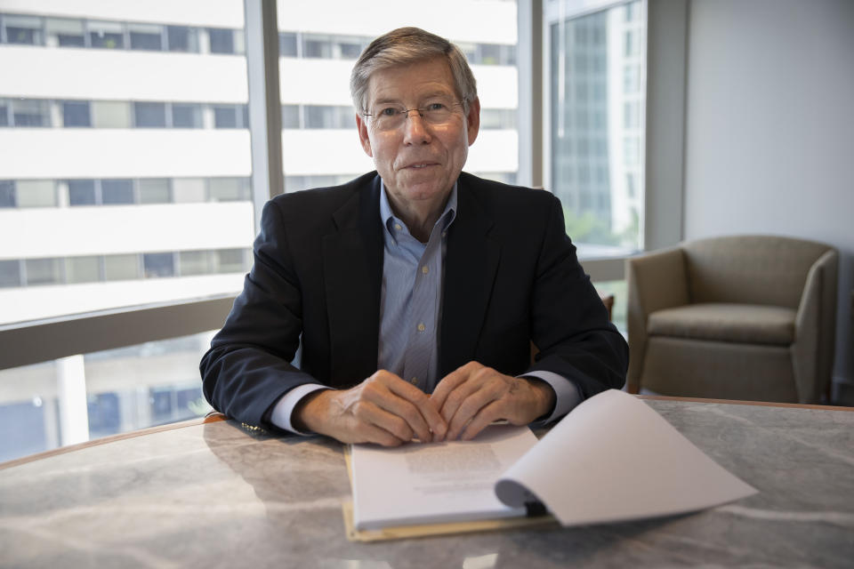
[[[794,309],[719,302],[688,304],[649,315],[650,335],[789,346]]]

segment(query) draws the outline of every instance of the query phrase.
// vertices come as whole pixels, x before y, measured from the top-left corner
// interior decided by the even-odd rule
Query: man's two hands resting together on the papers
[[[471,440],[493,421],[527,425],[548,413],[554,398],[544,381],[514,378],[477,362],[449,373],[431,395],[380,370],[351,389],[310,394],[294,409],[294,424],[342,443]]]

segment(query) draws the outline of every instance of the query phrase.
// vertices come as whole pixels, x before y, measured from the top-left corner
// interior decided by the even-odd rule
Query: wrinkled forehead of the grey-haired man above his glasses
[[[445,58],[376,69],[368,79],[367,103],[456,95],[454,76]]]

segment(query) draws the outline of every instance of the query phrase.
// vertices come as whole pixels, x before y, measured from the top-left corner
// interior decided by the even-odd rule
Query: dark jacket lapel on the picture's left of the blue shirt
[[[376,371],[383,277],[379,180],[375,176],[334,212],[337,231],[323,237],[334,384],[356,383]]]

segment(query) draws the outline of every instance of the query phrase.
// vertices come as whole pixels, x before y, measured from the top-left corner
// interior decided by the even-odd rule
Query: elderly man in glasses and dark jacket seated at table
[[[463,53],[394,30],[362,53],[350,91],[376,171],[266,204],[243,293],[201,362],[211,405],[400,445],[554,421],[622,387],[628,349],[558,199],[462,172],[480,112]]]

